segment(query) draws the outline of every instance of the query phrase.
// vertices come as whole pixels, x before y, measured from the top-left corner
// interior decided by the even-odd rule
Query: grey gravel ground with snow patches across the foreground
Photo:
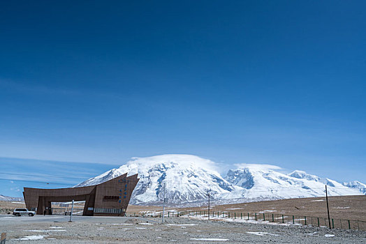
[[[3,216],[0,232],[6,243],[366,243],[365,231],[189,218]]]

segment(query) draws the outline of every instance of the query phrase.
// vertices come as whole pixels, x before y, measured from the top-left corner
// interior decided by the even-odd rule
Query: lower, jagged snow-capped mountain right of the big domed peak
[[[294,197],[320,197],[325,195],[360,195],[361,192],[332,181],[320,178],[305,171],[295,170],[290,174],[279,172],[274,165],[240,165],[239,169],[229,170],[226,180],[243,190],[230,192],[230,198],[245,199],[284,199]]]

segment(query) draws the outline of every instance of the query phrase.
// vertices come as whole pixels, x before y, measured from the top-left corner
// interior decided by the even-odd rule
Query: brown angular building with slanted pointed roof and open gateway
[[[82,215],[124,216],[129,201],[138,183],[138,174],[127,173],[98,185],[80,188],[39,189],[24,188],[27,208],[37,214],[52,214],[52,202],[85,201]]]

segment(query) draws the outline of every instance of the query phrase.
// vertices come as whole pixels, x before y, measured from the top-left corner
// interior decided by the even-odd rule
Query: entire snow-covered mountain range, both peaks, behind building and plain
[[[223,178],[217,164],[195,155],[157,155],[148,158],[132,158],[118,169],[111,169],[100,176],[76,185],[96,185],[124,173],[138,174],[140,181],[131,197],[131,204],[161,204],[163,188],[170,205],[199,205],[207,199],[207,192],[217,203],[233,203],[263,199],[365,194],[365,185],[338,183],[304,171],[290,174],[281,172],[274,165],[237,165]]]

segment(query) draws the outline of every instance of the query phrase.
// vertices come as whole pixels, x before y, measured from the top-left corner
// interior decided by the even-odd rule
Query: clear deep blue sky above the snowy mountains
[[[54,174],[39,160],[88,162],[78,170],[94,176],[133,156],[189,153],[223,170],[266,163],[366,182],[365,8],[1,3],[1,166]]]

